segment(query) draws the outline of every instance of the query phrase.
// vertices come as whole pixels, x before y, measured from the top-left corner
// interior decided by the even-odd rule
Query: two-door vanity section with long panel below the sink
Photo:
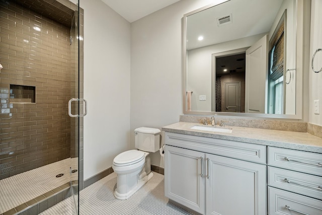
[[[171,132],[165,142],[169,199],[201,214],[267,214],[266,146]]]

